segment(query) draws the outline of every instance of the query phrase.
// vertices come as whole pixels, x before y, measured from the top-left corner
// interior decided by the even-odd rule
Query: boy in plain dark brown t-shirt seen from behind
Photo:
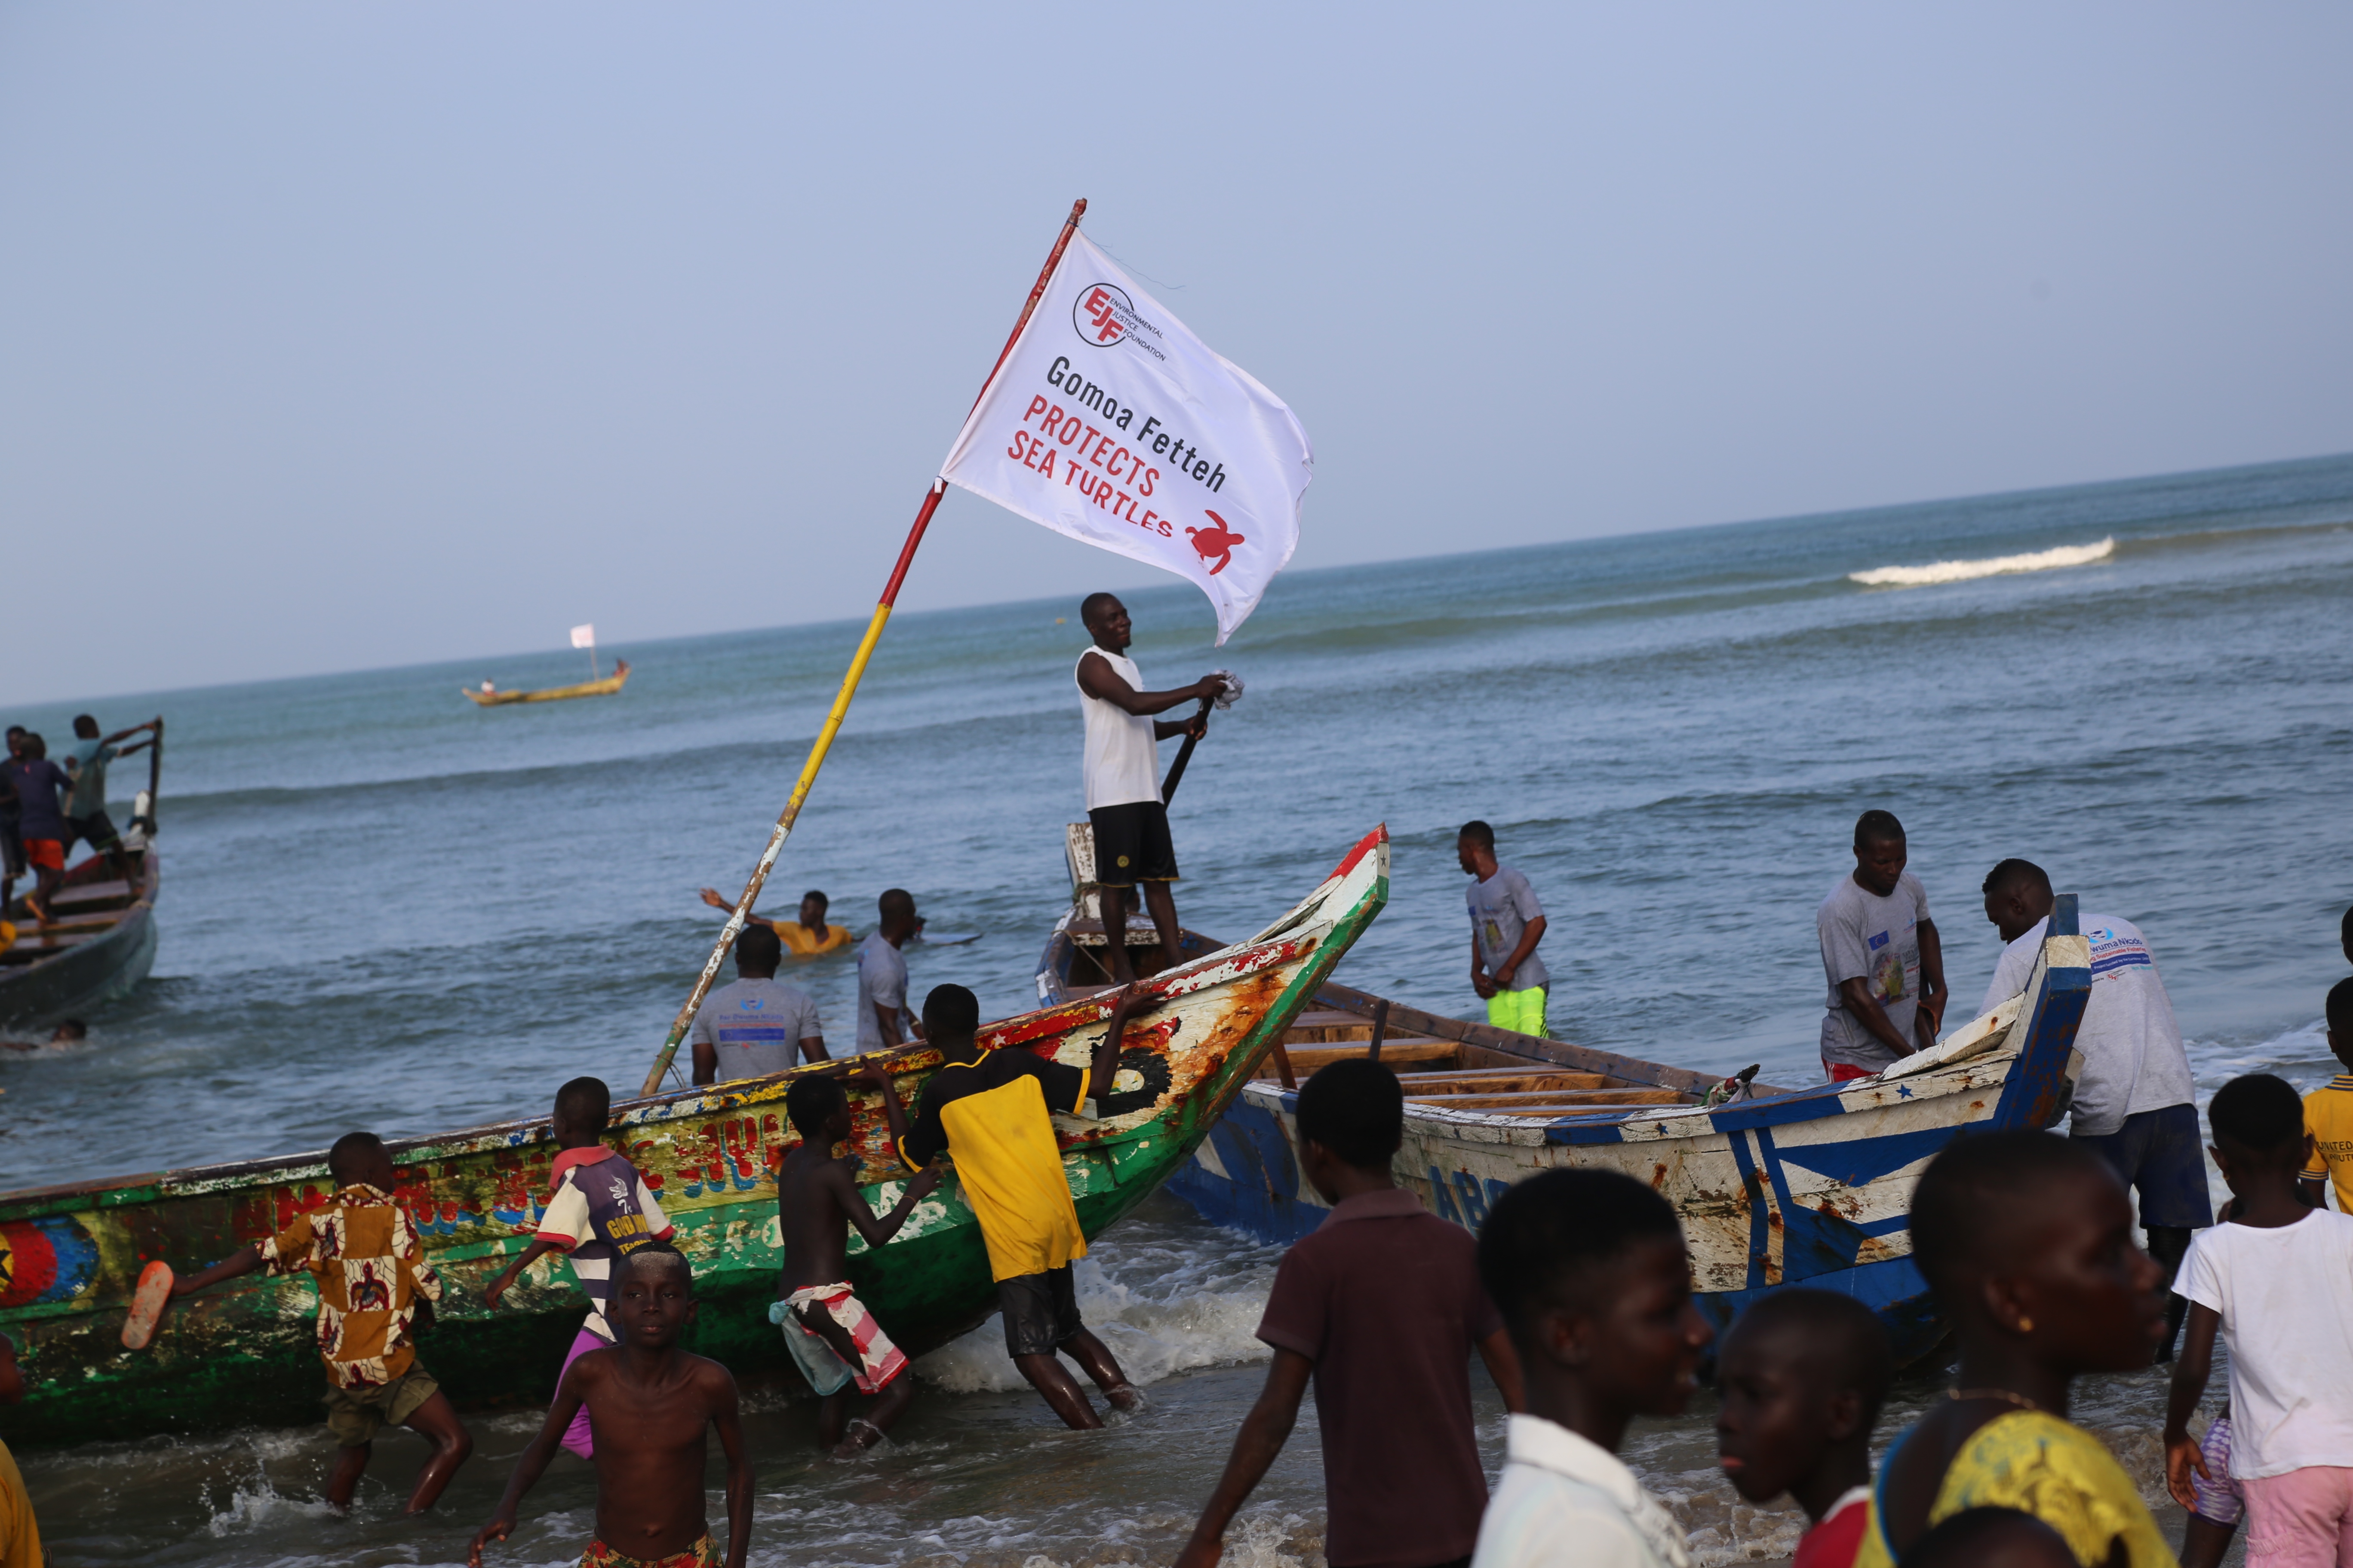
[[[1332,1063],[1299,1088],[1299,1166],[1332,1213],[1275,1272],[1259,1321],[1275,1363],[1176,1568],[1214,1568],[1311,1378],[1332,1568],[1433,1568],[1478,1544],[1487,1476],[1468,1352],[1511,1410],[1520,1363],[1480,1288],[1471,1232],[1398,1190],[1388,1166],[1402,1135],[1405,1091],[1379,1063]]]

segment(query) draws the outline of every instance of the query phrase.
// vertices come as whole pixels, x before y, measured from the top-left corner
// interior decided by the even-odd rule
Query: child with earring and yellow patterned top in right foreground
[[[2049,1133],[1965,1135],[1913,1190],[1911,1237],[1960,1368],[1880,1462],[1857,1568],[1974,1507],[2033,1514],[2085,1568],[2172,1568],[2132,1476],[2066,1420],[2068,1382],[2144,1368],[2165,1338],[2165,1269],[2108,1161]]]

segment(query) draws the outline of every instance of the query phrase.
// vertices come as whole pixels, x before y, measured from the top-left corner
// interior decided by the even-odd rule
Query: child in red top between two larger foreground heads
[[[1812,1528],[1793,1568],[1852,1568],[1871,1523],[1871,1422],[1894,1380],[1878,1314],[1835,1291],[1774,1291],[1715,1356],[1715,1450],[1748,1502],[1781,1493]]]

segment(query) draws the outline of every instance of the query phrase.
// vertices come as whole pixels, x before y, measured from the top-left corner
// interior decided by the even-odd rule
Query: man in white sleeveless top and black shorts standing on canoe
[[[1092,592],[1078,607],[1078,618],[1094,646],[1078,656],[1078,705],[1087,717],[1087,820],[1094,825],[1094,882],[1104,900],[1104,950],[1111,978],[1127,985],[1136,978],[1127,959],[1127,903],[1144,884],[1144,907],[1153,912],[1160,952],[1174,964],[1176,846],[1169,842],[1169,813],[1160,799],[1158,743],[1169,736],[1200,738],[1209,729],[1205,715],[1188,719],[1153,719],[1155,712],[1205,703],[1224,696],[1219,675],[1202,675],[1174,691],[1144,691],[1144,675],[1127,658],[1132,625],[1127,607],[1115,595]]]

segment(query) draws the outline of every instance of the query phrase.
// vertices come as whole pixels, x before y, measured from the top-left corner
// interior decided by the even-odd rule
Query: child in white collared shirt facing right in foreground
[[[1675,1516],[1617,1458],[1635,1415],[1689,1403],[1713,1338],[1675,1211],[1617,1171],[1546,1171],[1497,1199],[1478,1272],[1527,1413],[1471,1568],[1687,1568]]]

